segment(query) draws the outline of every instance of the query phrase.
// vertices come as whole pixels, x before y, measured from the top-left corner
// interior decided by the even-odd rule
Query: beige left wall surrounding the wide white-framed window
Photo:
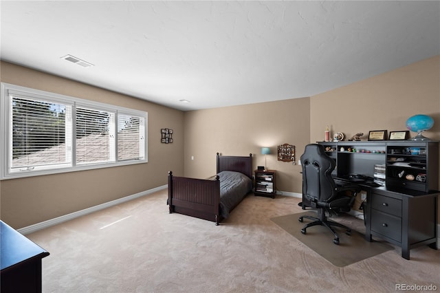
[[[2,180],[1,219],[23,228],[167,184],[168,170],[184,170],[184,112],[112,91],[1,62],[1,82],[148,112],[148,163]],[[173,144],[160,129],[174,130]],[[164,199],[164,210],[166,210]]]

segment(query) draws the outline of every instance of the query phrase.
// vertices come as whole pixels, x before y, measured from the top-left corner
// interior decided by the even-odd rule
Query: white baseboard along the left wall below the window
[[[17,231],[19,231],[22,235],[27,235],[32,232],[36,232],[38,230],[49,228],[50,226],[61,224],[65,221],[69,221],[71,219],[81,217],[83,215],[94,213],[94,212],[96,212],[98,210],[102,210],[104,208],[109,208],[111,206],[115,206],[117,204],[122,204],[123,202],[128,202],[129,200],[136,199],[136,198],[142,197],[144,195],[149,195],[151,193],[155,193],[156,191],[162,191],[162,189],[166,189],[166,188],[168,188],[168,185],[159,186],[159,187],[156,187],[153,189],[149,189],[148,191],[142,191],[140,193],[135,193],[134,195],[122,197],[120,199],[115,199],[115,200],[112,200],[111,202],[105,202],[104,204],[99,204],[98,206],[92,206],[90,208],[85,208],[84,210],[78,210],[77,212],[63,215],[61,217],[56,217],[54,219],[42,221],[40,223],[31,225],[31,226],[23,227],[23,228],[18,229]]]

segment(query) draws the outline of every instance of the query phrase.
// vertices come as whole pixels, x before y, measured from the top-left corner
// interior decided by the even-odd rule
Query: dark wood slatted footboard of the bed
[[[220,181],[173,176],[168,172],[168,205],[170,213],[214,221],[219,225]]]

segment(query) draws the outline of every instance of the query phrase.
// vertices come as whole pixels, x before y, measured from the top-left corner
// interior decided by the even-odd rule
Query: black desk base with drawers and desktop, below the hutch
[[[353,182],[335,178],[337,184]],[[401,257],[410,259],[410,249],[428,245],[437,249],[437,204],[439,191],[372,187],[356,183],[366,191],[365,239],[380,237],[401,247]]]

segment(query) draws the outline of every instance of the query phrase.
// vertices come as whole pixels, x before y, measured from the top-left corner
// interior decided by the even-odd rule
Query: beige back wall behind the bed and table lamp
[[[277,189],[301,193],[301,167],[277,160],[278,144],[296,146],[296,162],[309,143],[309,98],[263,102],[185,113],[185,175],[215,174],[215,154],[254,156],[264,166],[261,147],[270,147],[267,168],[277,170]],[[191,160],[194,156],[194,160]]]

